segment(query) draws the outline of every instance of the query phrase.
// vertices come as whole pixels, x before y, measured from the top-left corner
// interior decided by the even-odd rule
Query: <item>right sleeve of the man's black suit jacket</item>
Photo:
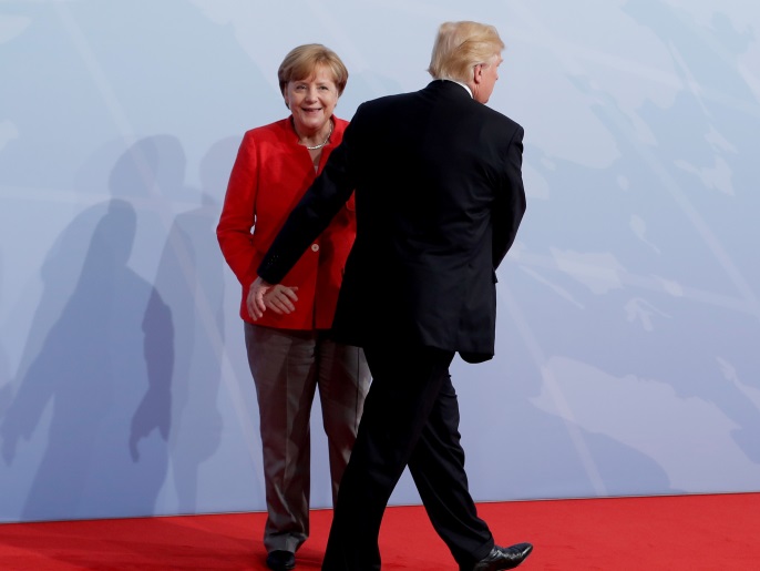
[[[499,267],[512,247],[517,227],[525,214],[523,186],[523,128],[517,125],[510,142],[503,182],[503,192],[496,196],[493,223],[493,267]]]

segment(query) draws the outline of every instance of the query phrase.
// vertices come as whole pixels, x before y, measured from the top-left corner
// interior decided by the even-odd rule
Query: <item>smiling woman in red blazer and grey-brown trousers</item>
[[[310,244],[283,283],[298,304],[278,310],[288,288],[273,290],[271,312],[254,324],[246,298],[264,253],[330,152],[347,121],[333,115],[348,80],[321,44],[291,50],[278,70],[290,116],[245,133],[217,226],[222,253],[240,282],[240,317],[258,399],[267,523],[267,565],[292,569],[309,533],[309,414],[317,387],[329,445],[333,501],[353,446],[370,375],[358,347],[335,343],[330,328],[346,258],[356,236],[353,198]]]

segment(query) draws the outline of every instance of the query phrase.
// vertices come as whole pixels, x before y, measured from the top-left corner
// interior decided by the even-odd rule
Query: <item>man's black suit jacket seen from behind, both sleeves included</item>
[[[362,103],[258,275],[279,283],[356,190],[335,338],[492,358],[495,271],[525,212],[522,141],[451,81]]]

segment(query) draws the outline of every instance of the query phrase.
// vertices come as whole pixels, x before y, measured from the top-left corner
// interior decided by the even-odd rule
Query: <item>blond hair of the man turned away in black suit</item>
[[[503,50],[504,42],[493,26],[471,21],[444,22],[438,29],[428,73],[437,80],[466,83],[475,65],[491,63]]]

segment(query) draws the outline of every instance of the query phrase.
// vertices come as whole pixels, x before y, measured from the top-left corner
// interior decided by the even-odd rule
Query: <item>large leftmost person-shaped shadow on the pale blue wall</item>
[[[158,155],[150,139],[122,154],[109,183],[114,197],[78,216],[42,269],[38,313],[60,308],[60,317],[47,333],[32,329],[28,345],[39,353],[19,369],[0,425],[10,465],[20,438],[50,415],[22,521],[154,512],[167,470],[174,328],[157,290],[129,266],[137,214],[124,196],[150,196]],[[81,254],[65,246],[81,247],[93,216],[100,220],[72,288],[66,261]]]

